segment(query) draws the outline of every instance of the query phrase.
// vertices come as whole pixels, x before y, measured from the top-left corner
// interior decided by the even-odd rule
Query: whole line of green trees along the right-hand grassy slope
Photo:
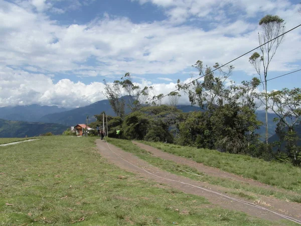
[[[162,104],[162,93],[156,93],[153,86],[142,88],[134,84],[130,73],[113,83],[104,80],[104,94],[116,115],[108,116],[108,136],[116,137],[116,130],[120,130],[118,137],[123,139],[217,149],[300,165],[301,148],[297,146],[299,138],[295,128],[301,119],[301,89],[267,90],[268,69],[283,40],[283,36],[278,36],[284,33],[285,23],[277,16],[267,15],[259,25],[262,28],[262,33],[258,33],[259,44],[270,41],[260,47],[261,54],[255,52],[249,58],[259,78],[236,84],[230,80],[233,66],[222,69],[216,63],[213,68],[218,70],[213,72],[213,68],[199,60],[193,67],[202,80],[191,78],[189,83],[178,80],[176,88],[186,93],[191,105],[201,108],[199,111],[178,109],[176,106],[181,96],[178,91],[168,94],[169,103]],[[261,84],[263,91],[259,92]],[[265,123],[257,120],[257,100],[264,104]],[[275,144],[268,144],[268,111],[277,115],[274,121],[277,122],[275,133],[279,142]],[[102,114],[95,117],[97,122],[91,127],[102,125]],[[266,127],[264,143],[256,134],[263,125]],[[284,142],[285,148],[281,150]],[[273,152],[275,146],[277,151]]]

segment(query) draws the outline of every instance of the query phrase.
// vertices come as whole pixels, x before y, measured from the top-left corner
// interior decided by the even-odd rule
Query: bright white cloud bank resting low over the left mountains
[[[100,82],[86,85],[61,79],[55,83],[50,76],[9,67],[0,67],[0,84],[0,106],[38,103],[77,107],[105,98]]]

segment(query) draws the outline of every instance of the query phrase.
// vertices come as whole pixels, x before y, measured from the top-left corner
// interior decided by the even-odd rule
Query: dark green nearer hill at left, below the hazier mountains
[[[51,132],[54,135],[62,134],[68,127],[48,123],[28,123],[0,119],[0,137],[34,137]]]

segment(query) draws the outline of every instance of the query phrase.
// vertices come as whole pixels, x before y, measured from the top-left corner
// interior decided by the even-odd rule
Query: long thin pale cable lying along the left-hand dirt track
[[[212,191],[212,190],[209,190],[209,189],[200,187],[200,186],[196,186],[196,185],[193,185],[193,184],[189,184],[189,183],[185,183],[185,182],[182,182],[182,181],[177,181],[177,180],[173,180],[173,179],[169,179],[169,178],[166,178],[166,177],[161,177],[161,176],[158,176],[158,175],[156,175],[156,174],[153,174],[153,173],[151,173],[151,172],[145,170],[143,167],[140,168],[140,167],[134,165],[133,163],[127,161],[127,160],[124,159],[122,156],[118,155],[116,152],[114,152],[114,151],[111,149],[111,147],[110,147],[109,144],[107,143],[107,140],[106,140],[105,137],[104,137],[104,139],[105,139],[105,142],[106,142],[108,148],[110,149],[110,151],[111,151],[112,153],[114,153],[115,155],[117,155],[119,158],[121,158],[123,161],[127,162],[128,164],[130,164],[130,165],[136,167],[137,169],[142,170],[142,171],[144,171],[144,172],[146,172],[146,173],[148,173],[148,174],[150,174],[150,175],[156,176],[156,177],[161,178],[161,179],[165,179],[165,180],[169,180],[169,181],[173,181],[173,182],[178,182],[178,183],[181,183],[181,184],[185,184],[185,185],[189,185],[189,186],[192,186],[192,187],[195,187],[195,188],[199,188],[199,189],[202,189],[202,190],[204,190],[204,191],[207,191],[207,192],[210,192],[210,193],[214,193],[214,194],[220,195],[220,196],[222,196],[222,197],[231,199],[231,200],[233,200],[233,201],[237,201],[237,202],[243,203],[243,204],[245,204],[245,205],[249,205],[249,206],[253,206],[253,207],[258,208],[258,209],[262,209],[262,210],[269,211],[269,212],[274,213],[274,214],[276,214],[276,215],[278,215],[278,216],[280,216],[280,217],[283,217],[283,218],[285,218],[285,219],[287,219],[287,220],[290,220],[290,221],[293,221],[293,222],[295,222],[295,223],[301,224],[301,220],[294,219],[294,218],[292,218],[292,217],[290,217],[290,216],[286,216],[286,215],[283,215],[283,214],[281,214],[281,213],[277,213],[277,212],[275,212],[275,211],[272,211],[272,210],[267,209],[267,208],[265,208],[265,207],[262,207],[262,206],[260,206],[260,205],[256,205],[256,204],[254,204],[254,203],[247,202],[247,201],[244,201],[244,200],[241,200],[241,199],[233,198],[233,197],[230,197],[230,196],[228,196],[228,195],[224,195],[224,194],[222,194],[222,193],[219,193],[219,192],[216,192],[216,191]]]

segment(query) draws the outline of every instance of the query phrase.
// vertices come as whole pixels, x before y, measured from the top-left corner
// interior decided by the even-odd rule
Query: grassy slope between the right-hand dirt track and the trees
[[[301,194],[301,168],[290,163],[266,162],[246,155],[221,153],[208,149],[183,147],[173,144],[141,142],[165,152],[192,158],[198,163],[278,186]]]

